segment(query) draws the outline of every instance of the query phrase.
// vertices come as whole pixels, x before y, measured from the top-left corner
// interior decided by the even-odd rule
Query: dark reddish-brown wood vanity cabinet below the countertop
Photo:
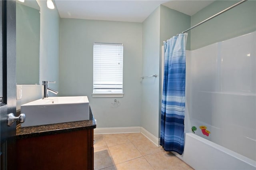
[[[18,138],[17,170],[93,170],[93,130]]]

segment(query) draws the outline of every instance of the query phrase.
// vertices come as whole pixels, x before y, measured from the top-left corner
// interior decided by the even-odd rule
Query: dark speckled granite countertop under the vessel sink
[[[76,121],[67,123],[56,123],[51,125],[40,125],[33,127],[21,127],[21,125],[16,126],[16,138],[28,138],[44,136],[49,134],[58,134],[65,132],[72,132],[76,130],[92,129],[96,128],[96,123],[92,115],[90,108],[90,119],[88,121]]]

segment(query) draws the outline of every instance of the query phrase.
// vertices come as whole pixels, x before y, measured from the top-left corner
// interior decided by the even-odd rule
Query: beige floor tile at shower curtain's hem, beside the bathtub
[[[157,170],[176,170],[180,169],[180,159],[171,152],[155,152],[144,156],[150,165]]]

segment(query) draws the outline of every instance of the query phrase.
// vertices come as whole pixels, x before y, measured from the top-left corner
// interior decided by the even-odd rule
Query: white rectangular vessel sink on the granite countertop
[[[87,96],[48,97],[20,106],[26,121],[22,127],[89,120]]]

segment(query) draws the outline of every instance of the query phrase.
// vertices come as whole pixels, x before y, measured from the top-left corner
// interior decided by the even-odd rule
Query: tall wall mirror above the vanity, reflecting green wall
[[[16,1],[16,83],[39,84],[40,7]]]

